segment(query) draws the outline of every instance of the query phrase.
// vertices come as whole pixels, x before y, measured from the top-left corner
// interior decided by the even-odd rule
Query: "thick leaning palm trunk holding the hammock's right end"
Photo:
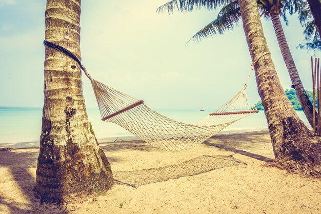
[[[243,28],[252,61],[268,52],[267,42],[255,0],[239,0]],[[276,74],[271,55],[254,66],[258,93],[268,122],[275,162],[288,169],[321,174],[321,143],[298,118]]]

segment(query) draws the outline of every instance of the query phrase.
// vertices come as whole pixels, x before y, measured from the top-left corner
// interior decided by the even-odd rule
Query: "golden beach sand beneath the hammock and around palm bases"
[[[38,148],[1,149],[0,213],[321,213],[321,181],[269,166],[267,131],[215,135],[182,152],[143,141],[100,145],[123,183],[65,205],[34,198]]]

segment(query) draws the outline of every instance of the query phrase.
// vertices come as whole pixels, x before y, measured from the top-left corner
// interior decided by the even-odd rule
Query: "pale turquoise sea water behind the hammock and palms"
[[[164,110],[156,109],[160,114],[176,121],[194,123],[210,111],[189,110]],[[132,136],[133,134],[124,128],[101,120],[98,109],[87,109],[89,120],[92,124],[96,137],[119,138]],[[308,125],[303,111],[297,111],[299,117]],[[42,108],[26,107],[0,107],[0,143],[38,142],[42,126]],[[252,114],[245,119],[239,120],[223,130],[229,132],[246,132],[251,130],[266,130],[267,121],[263,111]]]

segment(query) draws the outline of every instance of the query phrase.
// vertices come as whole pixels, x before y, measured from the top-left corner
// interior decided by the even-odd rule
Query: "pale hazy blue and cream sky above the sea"
[[[94,79],[144,100],[154,109],[213,109],[236,94],[250,72],[251,58],[242,21],[233,31],[200,43],[186,42],[217,16],[215,11],[156,13],[166,0],[83,0],[82,64]],[[0,106],[42,107],[46,1],[0,0]],[[304,39],[297,17],[283,23],[306,90],[311,90],[310,56],[296,48]],[[291,81],[272,23],[264,33],[284,89]],[[317,55],[318,53],[316,53]],[[97,108],[83,75],[87,108]],[[254,73],[247,93],[259,96]]]

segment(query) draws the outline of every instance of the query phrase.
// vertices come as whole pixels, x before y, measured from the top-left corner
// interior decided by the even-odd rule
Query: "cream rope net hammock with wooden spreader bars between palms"
[[[167,151],[182,151],[194,147],[230,124],[257,113],[245,93],[246,84],[230,101],[195,124],[167,118],[114,88],[94,80],[77,57],[67,49],[44,41],[44,44],[72,57],[90,79],[102,120],[122,126],[147,143]]]

